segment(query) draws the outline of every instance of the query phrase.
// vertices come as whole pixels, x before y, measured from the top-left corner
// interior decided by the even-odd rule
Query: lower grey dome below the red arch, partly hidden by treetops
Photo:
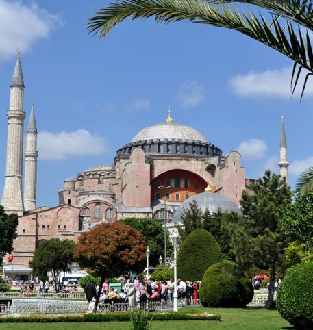
[[[238,214],[241,214],[239,207],[229,198],[221,194],[214,194],[214,192],[201,192],[201,194],[195,194],[188,198],[186,201],[184,201],[184,203],[179,205],[178,209],[173,215],[173,222],[181,222],[181,214],[184,212],[184,209],[188,210],[192,201],[196,201],[198,207],[200,207],[202,211],[208,209],[212,213],[216,213],[218,212],[218,210],[221,210],[221,212],[225,213],[236,212]]]

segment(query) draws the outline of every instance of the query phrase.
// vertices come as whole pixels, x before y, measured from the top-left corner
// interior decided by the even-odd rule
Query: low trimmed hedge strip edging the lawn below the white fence
[[[153,313],[149,313],[152,317]],[[158,312],[153,316],[155,321],[168,320],[207,320],[219,321],[221,316],[219,314],[208,313],[184,313],[184,312]],[[123,322],[130,321],[130,314],[128,312],[114,312],[114,313],[90,313],[82,315],[67,315],[67,316],[5,316],[0,317],[0,323],[54,323],[54,322]]]

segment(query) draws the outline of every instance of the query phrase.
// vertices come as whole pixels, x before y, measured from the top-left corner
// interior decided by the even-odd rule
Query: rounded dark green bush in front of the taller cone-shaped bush
[[[245,307],[253,299],[253,286],[238,264],[224,260],[205,272],[199,296],[204,307]]]

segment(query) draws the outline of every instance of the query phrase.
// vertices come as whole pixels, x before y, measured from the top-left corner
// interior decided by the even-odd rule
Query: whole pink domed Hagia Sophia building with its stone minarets
[[[192,199],[197,199],[200,207],[208,207],[212,212],[218,208],[224,212],[240,212],[242,191],[249,190],[254,182],[245,177],[238,151],[223,155],[222,150],[197,129],[176,123],[168,110],[166,120],[143,128],[118,149],[113,164],[87,168],[75,178],[66,178],[58,191],[58,205],[37,207],[37,126],[32,106],[23,150],[23,93],[18,53],[7,112],[8,144],[2,205],[6,212],[20,216],[12,265],[20,275],[28,276],[31,272],[29,260],[40,240],[77,241],[82,231],[102,221],[127,217],[151,217],[161,223],[166,219],[166,227],[173,233],[182,208],[188,207]],[[287,179],[289,163],[283,122],[280,156],[281,175]]]

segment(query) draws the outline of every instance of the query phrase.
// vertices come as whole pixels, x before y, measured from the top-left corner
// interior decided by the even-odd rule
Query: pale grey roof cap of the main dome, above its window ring
[[[131,142],[140,142],[145,140],[182,140],[185,142],[203,142],[208,140],[197,129],[187,125],[173,122],[155,124],[142,129]]]

